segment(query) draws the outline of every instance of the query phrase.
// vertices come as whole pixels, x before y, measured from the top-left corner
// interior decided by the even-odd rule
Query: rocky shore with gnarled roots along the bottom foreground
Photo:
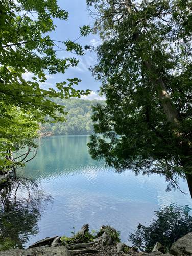
[[[114,228],[102,226],[97,234],[91,234],[89,225],[85,224],[72,237],[45,238],[26,250],[1,251],[0,256],[192,256],[192,233],[186,234],[173,243],[169,253],[163,254],[162,251],[163,245],[157,241],[151,253],[138,252],[137,248],[121,243],[119,234]]]

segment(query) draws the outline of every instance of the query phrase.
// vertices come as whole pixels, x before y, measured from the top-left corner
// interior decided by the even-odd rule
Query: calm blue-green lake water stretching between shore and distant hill
[[[90,230],[111,225],[127,242],[138,222],[148,224],[155,210],[171,203],[191,206],[189,195],[166,192],[164,177],[135,176],[130,170],[116,173],[104,161],[92,160],[88,141],[89,136],[44,139],[36,158],[21,171],[33,183],[25,180],[18,188],[15,184],[6,199],[11,207],[0,216],[16,223],[11,232],[20,243],[70,236],[73,227],[78,231],[86,223]],[[188,192],[186,182],[180,181],[180,187]]]

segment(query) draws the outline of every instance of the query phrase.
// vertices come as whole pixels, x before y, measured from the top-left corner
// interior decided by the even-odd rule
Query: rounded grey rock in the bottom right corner
[[[192,233],[188,233],[173,243],[170,253],[177,256],[192,255]]]

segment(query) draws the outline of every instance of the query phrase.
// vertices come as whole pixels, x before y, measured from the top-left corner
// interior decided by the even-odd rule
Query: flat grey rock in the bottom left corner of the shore
[[[35,247],[27,250],[13,249],[1,251],[0,256],[71,256],[65,246]]]

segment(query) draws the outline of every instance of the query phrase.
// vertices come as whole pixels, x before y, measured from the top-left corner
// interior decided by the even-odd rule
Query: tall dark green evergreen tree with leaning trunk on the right
[[[192,195],[191,1],[87,1],[101,36],[93,75],[106,106],[94,107],[89,149],[118,170],[158,173]]]

